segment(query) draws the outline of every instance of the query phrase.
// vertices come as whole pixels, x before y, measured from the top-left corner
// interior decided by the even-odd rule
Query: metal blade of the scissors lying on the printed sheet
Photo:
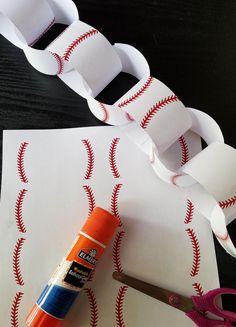
[[[164,288],[143,282],[139,279],[130,277],[123,273],[114,272],[112,276],[115,280],[183,312],[189,312],[193,309],[193,302],[190,298],[168,291]]]

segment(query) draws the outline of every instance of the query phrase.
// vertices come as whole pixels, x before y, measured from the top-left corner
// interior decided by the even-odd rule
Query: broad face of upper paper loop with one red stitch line
[[[79,20],[72,23],[46,50],[59,55],[77,70],[95,97],[121,71],[119,56],[95,28]]]

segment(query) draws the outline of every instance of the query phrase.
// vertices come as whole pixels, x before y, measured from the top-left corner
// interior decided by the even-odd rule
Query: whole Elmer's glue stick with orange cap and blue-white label
[[[95,208],[26,318],[30,327],[61,326],[76,297],[119,225],[117,217]]]

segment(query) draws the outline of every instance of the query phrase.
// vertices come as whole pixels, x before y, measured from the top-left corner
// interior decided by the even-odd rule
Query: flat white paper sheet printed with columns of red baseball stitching
[[[24,319],[95,206],[122,226],[65,326],[190,327],[185,315],[113,281],[123,270],[183,295],[219,287],[209,222],[115,127],[5,131],[0,224],[1,325]],[[177,169],[200,150],[188,132],[163,159]]]

